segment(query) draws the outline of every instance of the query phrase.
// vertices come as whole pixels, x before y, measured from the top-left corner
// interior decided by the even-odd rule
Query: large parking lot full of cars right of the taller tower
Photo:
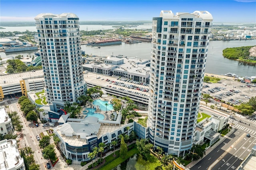
[[[222,79],[218,83],[203,83],[202,94],[206,93],[230,104],[239,105],[256,96],[256,87],[230,79]]]

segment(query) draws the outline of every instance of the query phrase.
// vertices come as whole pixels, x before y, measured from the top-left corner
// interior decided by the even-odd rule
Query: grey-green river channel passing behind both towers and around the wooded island
[[[206,62],[206,73],[222,75],[226,73],[235,73],[238,76],[255,76],[256,64],[244,63],[222,56],[222,50],[227,47],[241,47],[256,45],[256,40],[236,40],[236,41],[210,41],[208,49],[208,57]],[[127,57],[139,57],[142,59],[150,59],[150,42],[142,43],[122,43],[121,45],[102,46],[101,48],[82,45],[82,50],[86,54],[97,56],[124,55]],[[24,51],[18,53],[1,52],[2,58],[15,57],[16,55],[34,55],[33,51]]]

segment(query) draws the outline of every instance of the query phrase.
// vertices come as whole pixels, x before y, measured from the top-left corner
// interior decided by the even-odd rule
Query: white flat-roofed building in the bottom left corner
[[[0,169],[25,170],[24,160],[20,156],[17,142],[14,139],[0,141]]]

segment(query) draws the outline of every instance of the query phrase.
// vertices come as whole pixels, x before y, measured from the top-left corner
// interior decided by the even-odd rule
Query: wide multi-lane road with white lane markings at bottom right
[[[200,107],[200,109],[202,112],[212,115],[211,109],[206,107]],[[229,113],[225,114],[230,115]],[[229,119],[229,124],[235,128],[234,132],[190,169],[236,169],[256,144],[256,120],[254,117],[255,115],[248,118],[240,117],[236,114],[234,115],[235,119]],[[251,135],[250,138],[246,137],[248,133]]]

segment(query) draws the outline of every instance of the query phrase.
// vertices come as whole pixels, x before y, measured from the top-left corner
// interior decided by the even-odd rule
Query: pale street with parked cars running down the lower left
[[[42,156],[42,151],[40,147],[38,146],[39,141],[36,139],[36,135],[39,135],[40,132],[46,130],[42,126],[35,127],[33,123],[30,123],[26,121],[25,117],[22,115],[22,111],[20,111],[20,108],[18,106],[18,103],[12,103],[9,105],[11,111],[16,111],[18,115],[21,118],[23,129],[22,133],[24,134],[24,137],[20,141],[20,145],[22,148],[25,148],[26,146],[29,146],[34,151],[34,158],[36,161],[36,164],[40,165],[40,169],[44,170],[46,162],[48,160],[45,160]],[[34,127],[34,128],[33,128]]]

